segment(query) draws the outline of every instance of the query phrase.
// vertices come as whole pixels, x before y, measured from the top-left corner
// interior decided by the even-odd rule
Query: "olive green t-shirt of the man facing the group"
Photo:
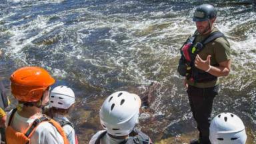
[[[213,27],[213,30],[211,31],[211,33],[215,31],[219,31],[219,30],[216,27]],[[205,39],[209,35],[210,33],[207,35],[201,35],[201,34],[197,35],[194,43],[203,41],[203,39]],[[199,52],[199,56],[201,57],[201,59],[206,60],[208,55],[211,55],[211,65],[218,65],[223,61],[227,61],[231,59],[230,45],[227,39],[225,39],[224,37],[219,37],[207,43],[205,47],[203,47],[203,50]],[[204,83],[196,83],[196,82],[187,80],[187,83],[194,87],[206,88],[206,87],[214,87],[215,85],[218,85],[219,79],[215,81],[207,81]]]

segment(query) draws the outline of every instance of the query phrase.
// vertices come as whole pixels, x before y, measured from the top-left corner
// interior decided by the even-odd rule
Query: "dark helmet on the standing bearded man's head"
[[[195,9],[195,13],[193,16],[193,21],[208,21],[213,17],[216,17],[217,11],[213,5],[203,4],[199,5],[197,9]]]

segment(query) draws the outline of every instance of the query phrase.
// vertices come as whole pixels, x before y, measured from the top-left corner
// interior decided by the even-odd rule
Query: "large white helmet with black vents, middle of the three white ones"
[[[129,135],[138,121],[139,107],[141,99],[138,95],[117,91],[109,95],[101,106],[101,125],[111,135]]]

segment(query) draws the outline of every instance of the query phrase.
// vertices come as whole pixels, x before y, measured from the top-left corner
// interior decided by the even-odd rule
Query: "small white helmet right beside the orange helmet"
[[[61,85],[55,87],[50,93],[49,105],[51,107],[68,109],[73,103],[75,103],[75,93],[70,87]]]

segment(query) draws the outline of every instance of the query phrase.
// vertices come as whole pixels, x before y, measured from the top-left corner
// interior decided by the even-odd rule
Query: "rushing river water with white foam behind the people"
[[[233,62],[213,115],[239,115],[247,143],[256,143],[256,15],[248,1],[1,0],[0,75],[9,89],[15,69],[37,65],[51,72],[55,85],[72,87],[71,120],[81,143],[102,129],[98,113],[109,94],[139,94],[155,81],[160,86],[139,127],[158,143],[188,143],[197,137],[196,124],[176,67],[202,3],[217,7],[216,27],[231,44]]]

